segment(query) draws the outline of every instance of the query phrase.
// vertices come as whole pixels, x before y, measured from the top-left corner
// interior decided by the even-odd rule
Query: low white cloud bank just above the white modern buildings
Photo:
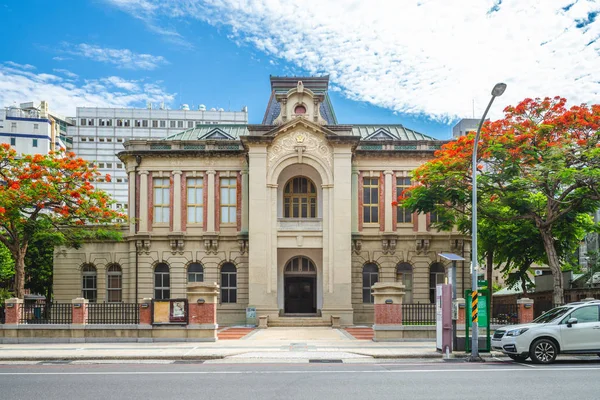
[[[174,98],[155,82],[109,76],[76,85],[56,75],[0,65],[0,107],[47,100],[51,110],[74,116],[76,107],[143,107],[147,101],[169,104]]]

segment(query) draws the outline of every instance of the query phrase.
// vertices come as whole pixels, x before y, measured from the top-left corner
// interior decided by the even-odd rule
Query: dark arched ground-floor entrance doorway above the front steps
[[[317,313],[317,269],[304,256],[294,257],[284,268],[284,312]]]

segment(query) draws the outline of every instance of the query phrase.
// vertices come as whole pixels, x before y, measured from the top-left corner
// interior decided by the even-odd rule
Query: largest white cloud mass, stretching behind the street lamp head
[[[154,26],[226,26],[237,43],[330,74],[348,98],[442,121],[470,117],[473,102],[478,117],[501,81],[492,117],[525,97],[600,95],[595,0],[106,1]]]

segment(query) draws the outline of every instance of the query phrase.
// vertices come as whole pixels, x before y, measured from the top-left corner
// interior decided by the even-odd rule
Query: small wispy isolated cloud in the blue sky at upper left
[[[169,63],[163,56],[135,53],[129,49],[111,49],[87,43],[63,43],[61,51],[126,69],[153,70]]]

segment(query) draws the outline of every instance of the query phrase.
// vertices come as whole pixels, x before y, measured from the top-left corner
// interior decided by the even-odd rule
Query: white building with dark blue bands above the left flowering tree
[[[46,154],[70,148],[70,118],[49,111],[48,103],[16,103],[0,109],[0,143],[10,144],[18,154]]]

